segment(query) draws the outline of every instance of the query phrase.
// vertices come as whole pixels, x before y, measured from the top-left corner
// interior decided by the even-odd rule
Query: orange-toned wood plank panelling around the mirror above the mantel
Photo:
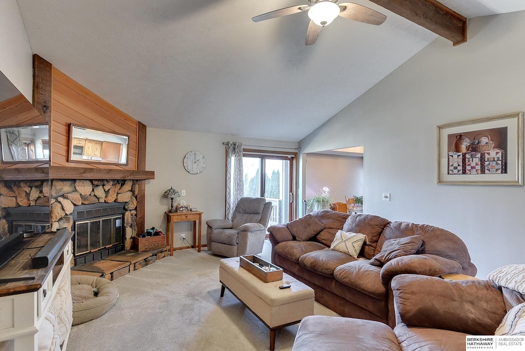
[[[128,135],[128,166],[68,162],[69,123]],[[139,122],[56,68],[51,129],[51,166],[137,170]]]

